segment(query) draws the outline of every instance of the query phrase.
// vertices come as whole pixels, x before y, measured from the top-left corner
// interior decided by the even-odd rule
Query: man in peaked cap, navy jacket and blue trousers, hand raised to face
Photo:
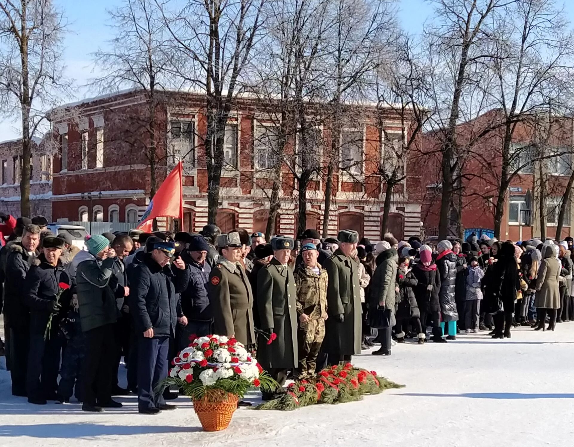
[[[189,270],[181,257],[173,261],[173,242],[146,242],[143,262],[130,276],[130,312],[138,334],[138,409],[139,413],[157,414],[172,410],[154,387],[168,375],[169,338],[175,336],[177,321],[187,325],[176,293],[185,290]]]

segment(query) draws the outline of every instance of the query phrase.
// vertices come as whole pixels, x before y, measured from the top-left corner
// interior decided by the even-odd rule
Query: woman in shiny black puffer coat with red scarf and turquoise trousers
[[[447,340],[456,340],[456,321],[459,314],[456,311],[456,254],[452,252],[451,242],[440,241],[437,246],[439,256],[436,265],[440,273],[440,311],[443,317],[440,326],[444,335],[445,323],[448,323]]]

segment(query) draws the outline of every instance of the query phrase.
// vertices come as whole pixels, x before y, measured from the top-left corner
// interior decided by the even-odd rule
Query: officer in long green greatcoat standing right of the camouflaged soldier
[[[359,233],[339,232],[339,248],[324,262],[329,275],[323,351],[329,364],[350,362],[351,355],[360,354],[361,304],[358,264],[351,257],[356,249]]]

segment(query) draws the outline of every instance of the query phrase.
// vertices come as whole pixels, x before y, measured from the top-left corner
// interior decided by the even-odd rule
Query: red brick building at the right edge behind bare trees
[[[497,120],[503,117],[497,110],[484,113],[475,120],[457,126],[459,143],[464,147],[487,127],[496,126]],[[541,132],[541,128],[545,128]],[[531,122],[518,123],[511,151],[516,151],[512,158],[512,171],[522,167],[519,174],[511,181],[505,194],[504,214],[502,217],[502,240],[528,240],[541,234],[540,212],[540,164],[544,163],[542,172],[545,181],[544,218],[546,221],[545,236],[556,236],[556,224],[560,210],[561,199],[572,173],[573,160],[573,121],[570,117],[553,117],[548,130],[548,123]],[[498,198],[498,185],[502,167],[502,128],[490,132],[487,136],[476,139],[472,149],[468,151],[463,168],[463,207],[462,225],[464,229],[494,229],[495,203]],[[424,171],[413,177],[413,198],[422,203],[421,217],[425,222],[426,233],[438,233],[441,177],[440,154],[437,147],[440,144],[439,132],[429,132],[424,135],[422,147],[425,159]],[[535,147],[545,147],[548,159],[536,161]],[[552,154],[556,154],[553,156]],[[540,157],[538,157],[540,158]],[[534,161],[533,161],[534,159]],[[526,195],[530,191],[532,205],[530,209],[530,225],[525,225]],[[456,200],[456,197],[455,197]],[[562,238],[574,236],[571,232],[573,207],[567,204]],[[453,211],[449,222],[449,233],[456,236],[456,213]]]

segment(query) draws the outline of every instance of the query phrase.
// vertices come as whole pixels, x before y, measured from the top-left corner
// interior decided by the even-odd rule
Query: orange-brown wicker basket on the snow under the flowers
[[[193,409],[206,432],[225,430],[237,409],[238,397],[221,391],[206,395],[202,399],[193,399]]]

